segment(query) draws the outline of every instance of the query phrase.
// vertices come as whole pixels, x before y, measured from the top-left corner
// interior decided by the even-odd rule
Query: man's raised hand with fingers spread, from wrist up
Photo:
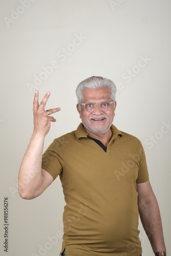
[[[33,115],[34,115],[34,132],[33,134],[39,134],[46,136],[49,133],[51,122],[56,122],[53,116],[49,116],[53,113],[60,111],[60,108],[45,110],[46,103],[49,99],[50,92],[38,103],[38,91],[35,91],[33,101]]]

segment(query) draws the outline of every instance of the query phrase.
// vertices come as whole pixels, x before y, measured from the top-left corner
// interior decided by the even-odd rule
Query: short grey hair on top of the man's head
[[[116,86],[114,82],[110,79],[103,78],[101,76],[92,76],[88,77],[87,79],[81,81],[76,89],[76,96],[78,100],[78,105],[80,106],[83,96],[82,92],[86,89],[100,89],[100,88],[107,88],[111,91],[111,99],[112,101],[116,101]]]

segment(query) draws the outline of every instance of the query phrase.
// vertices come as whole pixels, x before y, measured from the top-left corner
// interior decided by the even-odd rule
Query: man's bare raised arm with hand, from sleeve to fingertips
[[[60,111],[60,108],[51,109],[49,115],[45,111],[49,96],[48,92],[39,105],[38,91],[34,95],[34,131],[18,175],[18,192],[24,199],[38,197],[53,181],[52,176],[41,168],[45,136],[50,130],[51,122],[56,121],[49,115]]]

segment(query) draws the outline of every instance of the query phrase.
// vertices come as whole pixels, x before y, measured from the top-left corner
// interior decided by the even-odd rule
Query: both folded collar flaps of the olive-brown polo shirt
[[[114,140],[118,135],[121,137],[122,133],[112,124],[111,125],[112,130],[112,138],[111,140]],[[88,133],[84,130],[83,124],[80,123],[77,127],[77,130],[75,132],[75,136],[77,139],[79,138],[87,138]]]

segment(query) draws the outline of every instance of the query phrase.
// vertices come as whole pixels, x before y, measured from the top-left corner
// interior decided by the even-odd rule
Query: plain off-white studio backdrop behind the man
[[[59,178],[24,200],[17,176],[33,132],[32,102],[50,91],[53,116],[45,147],[80,123],[75,89],[87,77],[117,86],[114,125],[138,137],[170,251],[169,0],[1,0],[1,255],[59,255],[65,201]],[[104,177],[105,178],[105,177]],[[8,253],[4,198],[8,197]],[[128,220],[129,221],[129,220]],[[153,255],[139,223],[143,255]]]

